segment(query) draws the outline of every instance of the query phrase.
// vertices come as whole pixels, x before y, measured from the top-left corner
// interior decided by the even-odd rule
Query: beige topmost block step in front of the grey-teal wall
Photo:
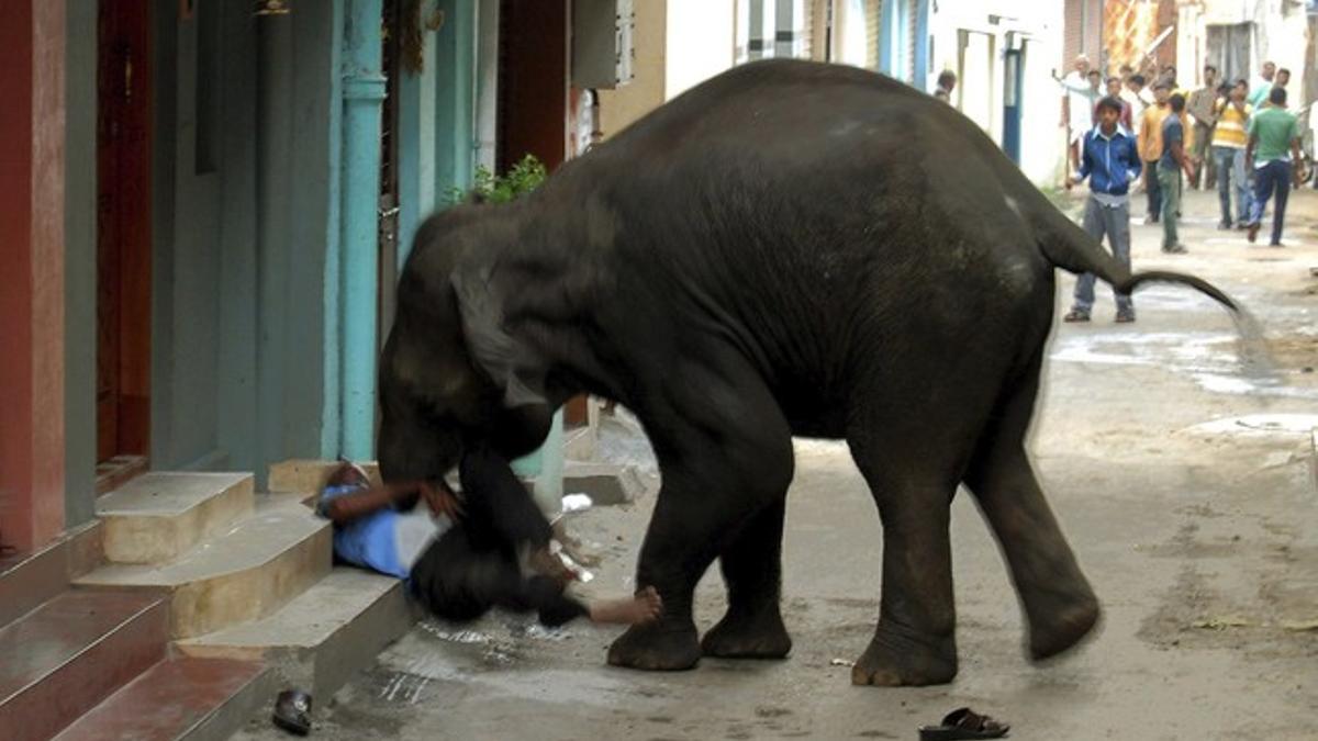
[[[96,501],[105,559],[158,564],[252,514],[250,473],[144,473]]]

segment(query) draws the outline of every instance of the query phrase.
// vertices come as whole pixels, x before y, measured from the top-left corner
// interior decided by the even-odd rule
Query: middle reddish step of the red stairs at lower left
[[[152,595],[74,589],[0,629],[0,736],[43,740],[165,658]]]

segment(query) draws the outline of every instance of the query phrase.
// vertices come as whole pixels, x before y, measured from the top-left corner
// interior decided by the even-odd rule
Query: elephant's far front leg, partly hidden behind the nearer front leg
[[[786,494],[755,514],[720,554],[728,614],[700,642],[705,655],[780,659],[792,650],[779,604]]]

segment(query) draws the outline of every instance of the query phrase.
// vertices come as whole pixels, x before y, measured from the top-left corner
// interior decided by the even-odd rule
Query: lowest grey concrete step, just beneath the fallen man
[[[177,647],[191,657],[261,661],[285,683],[330,697],[418,617],[398,579],[336,567],[274,614]]]

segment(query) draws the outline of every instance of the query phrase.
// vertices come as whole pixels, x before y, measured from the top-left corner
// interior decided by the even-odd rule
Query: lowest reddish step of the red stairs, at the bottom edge
[[[260,662],[170,658],[111,695],[57,741],[220,741],[273,690]]]

